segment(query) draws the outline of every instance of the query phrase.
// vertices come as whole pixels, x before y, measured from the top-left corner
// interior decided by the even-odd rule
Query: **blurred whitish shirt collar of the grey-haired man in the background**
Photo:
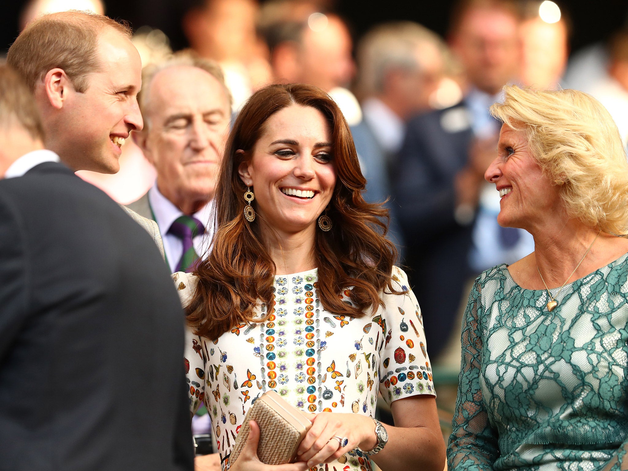
[[[375,97],[364,100],[362,113],[382,150],[389,154],[398,153],[406,132],[403,120]]]

